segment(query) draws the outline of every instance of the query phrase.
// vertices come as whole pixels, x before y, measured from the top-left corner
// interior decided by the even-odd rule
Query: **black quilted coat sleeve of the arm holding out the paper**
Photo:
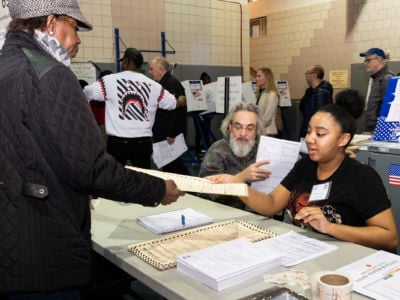
[[[61,79],[61,80],[60,80]],[[61,180],[76,190],[123,202],[157,205],[165,183],[125,169],[105,151],[95,119],[75,75],[52,69],[39,81],[32,126],[43,154]]]

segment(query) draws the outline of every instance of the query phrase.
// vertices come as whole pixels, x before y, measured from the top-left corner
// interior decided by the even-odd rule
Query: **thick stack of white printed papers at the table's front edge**
[[[220,291],[278,267],[282,255],[235,239],[177,258],[178,271]]]

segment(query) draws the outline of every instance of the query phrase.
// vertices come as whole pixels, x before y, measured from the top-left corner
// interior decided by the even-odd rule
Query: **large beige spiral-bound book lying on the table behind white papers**
[[[172,233],[161,238],[131,244],[128,250],[158,270],[176,267],[179,255],[238,238],[257,242],[276,233],[249,222],[228,220]]]

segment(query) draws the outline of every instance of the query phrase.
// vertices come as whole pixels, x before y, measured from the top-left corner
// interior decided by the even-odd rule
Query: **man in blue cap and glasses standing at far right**
[[[382,49],[371,48],[360,53],[360,56],[364,57],[365,70],[371,78],[366,97],[365,131],[373,133],[381,111],[387,83],[394,73],[389,70],[385,52]]]

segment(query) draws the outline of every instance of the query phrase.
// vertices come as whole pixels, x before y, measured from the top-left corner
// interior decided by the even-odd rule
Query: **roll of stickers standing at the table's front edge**
[[[316,300],[350,300],[353,281],[340,272],[322,271],[312,276],[312,294]]]

